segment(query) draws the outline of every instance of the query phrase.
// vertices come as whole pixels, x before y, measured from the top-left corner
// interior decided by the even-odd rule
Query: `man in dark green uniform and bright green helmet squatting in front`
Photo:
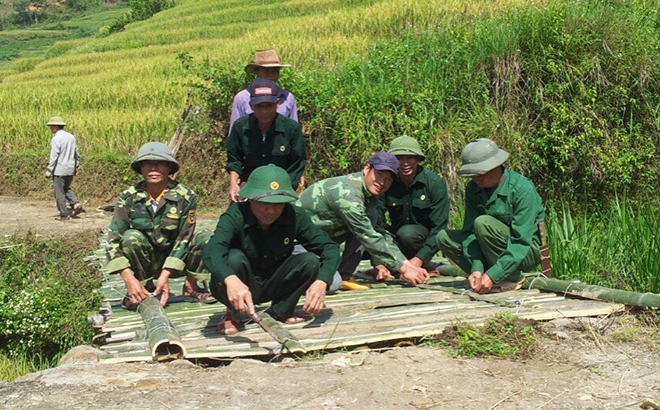
[[[255,169],[239,194],[248,202],[229,206],[204,249],[211,292],[227,306],[218,332],[236,333],[240,314],[268,301],[276,319],[301,322],[294,309],[303,293],[303,310],[318,313],[339,266],[339,246],[291,204],[298,195],[284,169]],[[295,241],[309,252],[293,254]]]

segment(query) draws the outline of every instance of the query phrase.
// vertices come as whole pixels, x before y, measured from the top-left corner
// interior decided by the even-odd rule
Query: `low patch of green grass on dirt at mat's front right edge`
[[[538,346],[535,322],[502,313],[483,326],[458,321],[438,337],[426,341],[430,347],[448,347],[451,357],[526,359]]]

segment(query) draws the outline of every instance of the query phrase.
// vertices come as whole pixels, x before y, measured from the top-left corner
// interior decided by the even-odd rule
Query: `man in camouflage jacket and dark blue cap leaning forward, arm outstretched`
[[[346,242],[339,266],[345,287],[351,288],[350,279],[364,250],[376,265],[378,279],[390,276],[389,271],[400,272],[402,279],[413,284],[429,278],[425,269],[406,259],[389,233],[374,226],[378,197],[392,185],[398,168],[394,155],[378,152],[362,171],[316,182],[300,196],[299,204],[312,222],[335,242]]]

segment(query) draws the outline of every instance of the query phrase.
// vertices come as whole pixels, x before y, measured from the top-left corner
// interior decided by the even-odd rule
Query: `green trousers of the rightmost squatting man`
[[[436,237],[442,253],[468,275],[472,273],[472,264],[463,255],[463,241],[469,235],[469,232],[445,229],[440,231]],[[475,220],[474,236],[477,238],[483,256],[481,261],[488,271],[488,268],[493,266],[506,250],[507,242],[511,237],[511,228],[492,216],[482,215]],[[522,278],[521,272],[534,269],[540,261],[541,252],[537,246],[533,246],[518,269],[503,280],[519,281]]]

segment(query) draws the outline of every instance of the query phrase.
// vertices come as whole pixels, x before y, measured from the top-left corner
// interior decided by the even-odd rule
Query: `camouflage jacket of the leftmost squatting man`
[[[196,209],[195,193],[177,181],[168,183],[156,212],[144,181],[122,192],[108,228],[108,273],[130,267],[122,251],[122,235],[128,229],[142,232],[154,252],[168,255],[163,269],[183,271],[195,233]]]

